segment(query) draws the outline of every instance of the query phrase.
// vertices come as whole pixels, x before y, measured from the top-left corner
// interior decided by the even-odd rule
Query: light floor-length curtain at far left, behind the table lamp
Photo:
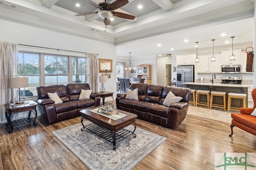
[[[0,121],[6,120],[4,104],[12,103],[14,90],[8,88],[8,77],[17,75],[17,44],[0,41]]]

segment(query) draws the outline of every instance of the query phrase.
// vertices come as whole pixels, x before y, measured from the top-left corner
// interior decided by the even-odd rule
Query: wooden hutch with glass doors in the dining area
[[[144,83],[151,84],[151,65],[138,65],[137,77],[145,78]]]

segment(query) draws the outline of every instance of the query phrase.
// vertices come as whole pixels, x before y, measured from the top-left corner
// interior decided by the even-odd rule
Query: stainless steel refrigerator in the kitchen
[[[177,66],[177,87],[184,87],[184,82],[194,82],[194,66]]]

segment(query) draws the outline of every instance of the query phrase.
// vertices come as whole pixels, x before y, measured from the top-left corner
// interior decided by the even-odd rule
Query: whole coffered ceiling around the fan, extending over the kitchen
[[[0,0],[1,19],[113,43],[118,56],[168,54],[171,48],[192,49],[196,41],[198,47],[210,48],[211,39],[218,47],[227,45],[231,36],[234,45],[253,41],[254,0],[129,0],[114,11],[136,18],[113,17],[106,28],[98,14],[75,16],[95,11],[99,10],[84,0]]]

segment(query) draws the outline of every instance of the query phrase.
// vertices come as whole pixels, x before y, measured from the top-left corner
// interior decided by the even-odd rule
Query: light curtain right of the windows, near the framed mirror
[[[89,84],[92,92],[98,91],[98,64],[97,64],[97,54],[88,53],[88,63],[89,63]]]

